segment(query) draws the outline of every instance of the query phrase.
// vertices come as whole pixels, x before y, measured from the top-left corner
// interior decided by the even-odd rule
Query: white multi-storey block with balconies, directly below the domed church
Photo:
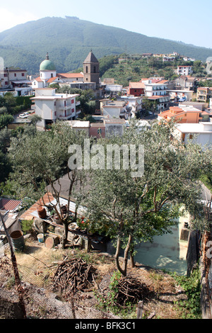
[[[56,90],[35,89],[35,97],[30,98],[35,103],[35,114],[42,118],[42,121],[37,123],[38,128],[45,129],[46,125],[56,120],[74,120],[81,112],[76,111],[78,94],[56,94]]]

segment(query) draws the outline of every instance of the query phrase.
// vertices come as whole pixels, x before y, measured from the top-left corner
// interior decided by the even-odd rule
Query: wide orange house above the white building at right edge
[[[171,120],[175,118],[177,123],[197,124],[203,120],[203,115],[209,121],[210,115],[206,111],[202,112],[193,106],[172,106],[169,110],[159,113],[158,120]]]

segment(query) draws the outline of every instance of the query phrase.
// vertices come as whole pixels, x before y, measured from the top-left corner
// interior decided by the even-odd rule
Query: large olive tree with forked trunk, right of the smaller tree
[[[183,207],[197,224],[204,220],[198,179],[201,170],[211,165],[211,153],[173,140],[173,126],[155,123],[141,135],[132,125],[123,137],[99,141],[105,151],[108,145],[117,145],[116,149],[122,145],[143,145],[145,152],[142,176],[132,176],[132,169],[124,169],[123,163],[119,164],[120,169],[107,169],[106,162],[105,169],[91,169],[92,187],[84,199],[90,230],[105,232],[113,240],[117,269],[124,276],[129,256],[134,264],[136,244],[171,232]],[[116,151],[114,157],[118,155]],[[123,162],[127,154],[119,156]],[[119,263],[121,248],[123,266]]]

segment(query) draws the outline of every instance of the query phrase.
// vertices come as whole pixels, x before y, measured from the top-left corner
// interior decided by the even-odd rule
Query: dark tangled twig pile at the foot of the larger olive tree
[[[125,306],[127,303],[137,304],[153,293],[153,290],[150,290],[144,283],[132,276],[120,278],[116,291],[114,303],[121,306]]]

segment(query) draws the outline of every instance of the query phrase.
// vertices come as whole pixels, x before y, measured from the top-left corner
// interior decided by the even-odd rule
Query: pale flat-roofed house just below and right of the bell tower
[[[100,100],[101,115],[107,115],[108,118],[128,119],[130,111],[126,109],[126,101],[112,101],[110,99]]]

